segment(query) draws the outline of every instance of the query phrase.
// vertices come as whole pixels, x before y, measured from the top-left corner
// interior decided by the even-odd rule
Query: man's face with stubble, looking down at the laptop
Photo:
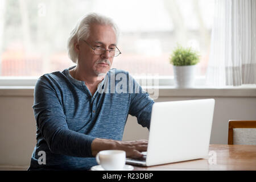
[[[116,46],[116,37],[113,28],[100,24],[92,24],[90,26],[90,36],[85,41],[93,48],[110,50],[115,49]],[[88,44],[83,40],[79,42],[79,66],[92,76],[107,73],[112,66],[113,57],[110,57],[109,51],[106,51],[102,55],[96,55]]]

